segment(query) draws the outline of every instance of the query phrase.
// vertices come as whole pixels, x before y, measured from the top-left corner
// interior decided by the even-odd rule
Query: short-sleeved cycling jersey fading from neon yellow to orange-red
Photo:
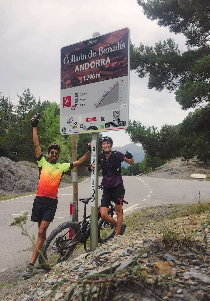
[[[43,155],[37,159],[39,166],[39,183],[36,195],[57,199],[58,187],[64,172],[73,168],[72,163],[49,163]]]

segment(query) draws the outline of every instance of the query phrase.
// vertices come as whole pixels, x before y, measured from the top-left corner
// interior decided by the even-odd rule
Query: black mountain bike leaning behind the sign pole
[[[103,186],[99,185],[99,189],[103,190]],[[84,203],[84,214],[81,222],[65,222],[56,227],[47,237],[45,244],[41,248],[44,256],[47,256],[47,261],[50,265],[55,265],[66,260],[76,249],[84,244],[84,250],[89,252],[86,247],[87,240],[90,237],[90,215],[86,216],[86,206],[92,197],[79,199]],[[124,203],[128,204],[125,200]],[[115,233],[115,227],[101,218],[100,207],[98,207],[98,242],[104,243]],[[108,214],[115,218],[115,206],[111,203]],[[70,234],[71,233],[71,234]],[[50,270],[50,266],[44,264],[44,259],[39,255],[39,264],[45,271]]]

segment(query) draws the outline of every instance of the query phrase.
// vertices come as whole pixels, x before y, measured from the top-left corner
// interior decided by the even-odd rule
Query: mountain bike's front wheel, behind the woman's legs
[[[115,207],[113,208],[113,211],[109,208],[108,214],[114,219],[117,219]],[[103,244],[105,241],[113,237],[115,230],[116,228],[113,225],[100,218],[98,222],[98,242]]]

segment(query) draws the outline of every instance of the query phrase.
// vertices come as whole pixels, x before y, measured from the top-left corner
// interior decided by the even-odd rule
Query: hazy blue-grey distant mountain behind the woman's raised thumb
[[[133,155],[135,163],[141,162],[145,157],[145,152],[142,149],[142,146],[138,146],[134,143],[129,143],[120,147],[112,147],[112,150],[120,151],[123,154],[125,154],[125,150],[129,151]],[[129,164],[124,161],[121,163],[121,165],[124,166],[125,168],[129,166]]]

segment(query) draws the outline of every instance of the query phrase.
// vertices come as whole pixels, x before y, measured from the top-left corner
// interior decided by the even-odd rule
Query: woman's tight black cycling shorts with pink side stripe
[[[104,187],[101,199],[101,207],[109,208],[111,201],[114,202],[115,205],[122,205],[124,195],[125,188],[123,186],[123,183],[120,183],[117,186],[111,188]]]

